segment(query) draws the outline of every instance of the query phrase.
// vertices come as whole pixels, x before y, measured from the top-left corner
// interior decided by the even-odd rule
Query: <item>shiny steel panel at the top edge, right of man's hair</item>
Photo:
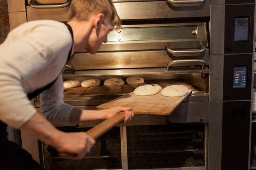
[[[208,17],[210,1],[204,1],[200,6],[175,7],[166,1],[157,2],[120,2],[115,3],[117,13],[122,20],[156,19],[156,18],[191,18]],[[127,12],[129,11],[129,12]],[[159,12],[162,11],[162,12]]]

